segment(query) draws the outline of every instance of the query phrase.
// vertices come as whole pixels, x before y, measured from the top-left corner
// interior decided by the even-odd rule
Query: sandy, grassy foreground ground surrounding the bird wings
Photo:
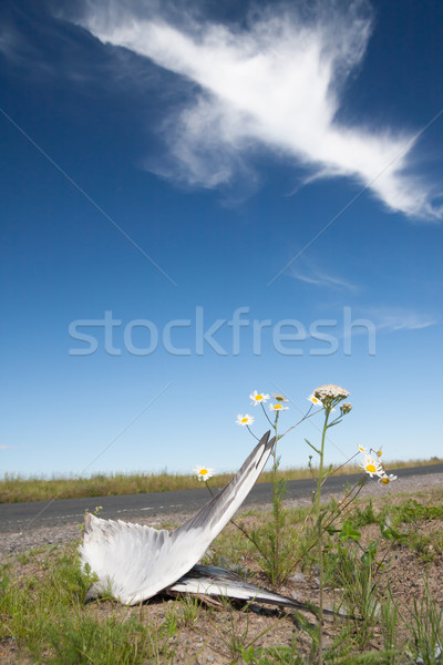
[[[334,511],[337,503],[324,507]],[[285,508],[286,595],[319,603],[318,549],[310,548],[308,509]],[[260,532],[271,514],[237,518]],[[322,539],[328,664],[441,663],[443,646],[443,490],[357,500]],[[80,534],[79,534],[80,535]],[[288,539],[288,540],[287,540]],[[84,604],[93,575],[82,572],[78,542],[11,556],[0,572],[0,659],[4,663],[296,664],[319,662],[319,621],[305,612],[153,598],[135,606],[113,600]],[[271,587],[266,561],[230,524],[204,563],[236,567]]]

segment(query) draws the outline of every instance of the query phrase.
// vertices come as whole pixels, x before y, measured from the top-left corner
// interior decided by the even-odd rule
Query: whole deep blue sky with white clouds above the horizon
[[[329,382],[329,461],[441,456],[443,7],[0,13],[1,472],[235,470]]]

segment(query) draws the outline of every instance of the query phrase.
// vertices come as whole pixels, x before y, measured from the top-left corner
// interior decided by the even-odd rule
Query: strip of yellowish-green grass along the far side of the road
[[[443,463],[442,458],[433,457],[429,460],[410,460],[387,462],[385,468],[404,469]],[[312,478],[318,472],[305,469],[278,469],[279,480],[300,480]],[[360,473],[361,468],[357,464],[348,464],[339,469],[334,474],[344,475]],[[213,487],[224,487],[233,477],[233,473],[218,473],[212,479]],[[272,471],[261,473],[258,482],[271,482]],[[122,494],[140,494],[144,492],[169,492],[174,490],[204,489],[196,483],[195,474],[179,473],[95,473],[89,478],[62,477],[23,478],[20,474],[4,473],[0,479],[0,503],[18,503],[21,501],[50,501],[52,499],[81,499],[90,497],[113,497]]]

